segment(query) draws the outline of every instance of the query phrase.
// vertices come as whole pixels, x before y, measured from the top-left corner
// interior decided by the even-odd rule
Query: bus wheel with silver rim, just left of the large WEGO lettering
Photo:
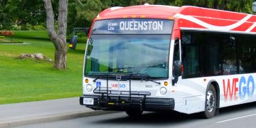
[[[205,111],[202,112],[202,117],[210,119],[214,117],[217,106],[217,95],[213,85],[210,85],[209,89],[206,92],[206,107]]]

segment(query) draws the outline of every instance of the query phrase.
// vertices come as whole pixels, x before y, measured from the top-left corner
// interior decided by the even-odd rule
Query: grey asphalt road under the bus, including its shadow
[[[256,127],[256,102],[225,107],[212,119],[201,119],[198,114],[178,112],[144,112],[142,117],[132,119],[125,112],[92,117],[33,124],[23,127]]]

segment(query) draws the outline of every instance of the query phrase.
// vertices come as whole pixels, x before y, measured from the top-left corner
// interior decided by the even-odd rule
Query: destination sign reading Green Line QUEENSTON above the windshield
[[[154,18],[122,18],[95,21],[92,34],[171,34],[174,21]]]

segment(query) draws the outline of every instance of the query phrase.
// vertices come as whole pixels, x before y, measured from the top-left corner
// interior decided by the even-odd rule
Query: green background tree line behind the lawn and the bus
[[[89,27],[100,11],[111,6],[144,3],[171,6],[201,6],[252,14],[253,0],[69,0],[68,33],[74,27]],[[58,17],[58,0],[52,0]],[[57,26],[57,23],[55,23]],[[46,11],[42,0],[0,0],[0,30],[46,30]]]

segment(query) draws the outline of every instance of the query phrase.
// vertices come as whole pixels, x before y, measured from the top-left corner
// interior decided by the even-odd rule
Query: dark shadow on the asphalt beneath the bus
[[[235,112],[243,112],[248,110],[255,110],[256,102],[247,103],[244,105],[235,105],[231,107],[224,107],[220,109],[220,116],[226,116],[228,114],[234,114]],[[216,115],[215,117],[218,117]],[[214,118],[213,118],[214,119]],[[95,121],[94,123],[100,124],[182,124],[183,122],[194,122],[202,121],[200,113],[196,114],[183,114],[180,112],[145,112],[141,117],[120,117],[120,118],[110,118]],[[210,119],[206,119],[210,121]]]

